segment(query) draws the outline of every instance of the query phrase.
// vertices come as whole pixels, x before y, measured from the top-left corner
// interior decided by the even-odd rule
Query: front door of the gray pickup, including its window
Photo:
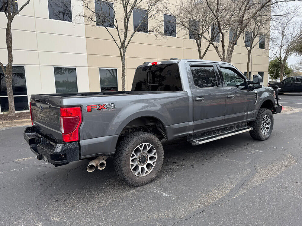
[[[255,108],[255,91],[249,90],[246,77],[229,64],[218,65],[226,93],[224,126],[250,121]]]

